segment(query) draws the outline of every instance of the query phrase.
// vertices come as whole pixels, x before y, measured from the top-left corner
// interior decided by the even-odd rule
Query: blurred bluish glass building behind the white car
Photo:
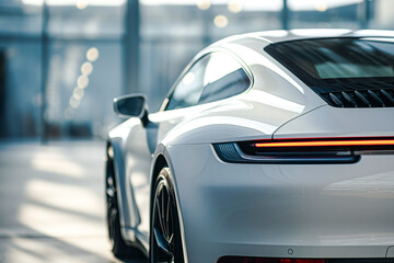
[[[0,139],[101,138],[113,98],[157,111],[222,37],[305,27],[394,28],[393,0],[0,0]]]

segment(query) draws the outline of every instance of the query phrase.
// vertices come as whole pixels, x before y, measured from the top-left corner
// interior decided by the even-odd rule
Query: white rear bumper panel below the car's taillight
[[[188,263],[223,255],[385,258],[394,245],[394,156],[234,164],[220,161],[211,145],[167,151]]]

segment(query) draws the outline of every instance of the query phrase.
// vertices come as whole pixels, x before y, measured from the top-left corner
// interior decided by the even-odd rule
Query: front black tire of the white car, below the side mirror
[[[114,171],[114,162],[108,159],[106,163],[105,196],[106,222],[111,250],[118,259],[130,259],[138,254],[138,251],[136,248],[126,244],[120,232],[119,206]]]

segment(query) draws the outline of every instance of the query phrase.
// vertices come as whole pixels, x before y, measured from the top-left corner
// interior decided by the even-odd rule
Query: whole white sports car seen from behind
[[[107,140],[112,249],[152,263],[394,262],[394,33],[233,36]]]

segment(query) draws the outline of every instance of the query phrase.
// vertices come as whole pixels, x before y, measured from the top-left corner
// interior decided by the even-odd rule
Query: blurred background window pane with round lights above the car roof
[[[282,0],[140,0],[142,36],[222,36],[280,28]]]

